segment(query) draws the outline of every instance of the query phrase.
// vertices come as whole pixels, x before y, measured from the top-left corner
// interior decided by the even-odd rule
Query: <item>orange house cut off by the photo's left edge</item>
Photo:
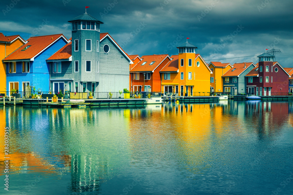
[[[3,60],[13,51],[18,49],[20,46],[25,44],[26,41],[23,40],[19,35],[4,36],[0,32],[0,58]],[[0,66],[0,91],[1,93],[6,92],[6,63]]]

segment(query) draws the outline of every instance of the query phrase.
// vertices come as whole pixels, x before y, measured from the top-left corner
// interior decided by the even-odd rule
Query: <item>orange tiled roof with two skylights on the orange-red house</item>
[[[168,58],[171,60],[168,54],[163,55],[149,55],[149,56],[142,56],[142,60],[135,65],[130,72],[154,72],[154,70],[166,59]],[[144,62],[144,65],[142,65]],[[151,62],[154,62],[152,65],[149,65]]]

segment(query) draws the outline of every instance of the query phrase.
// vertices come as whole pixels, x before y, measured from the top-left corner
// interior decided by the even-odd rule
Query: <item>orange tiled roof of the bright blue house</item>
[[[45,35],[45,36],[38,36],[38,37],[30,37],[26,44],[16,49],[9,56],[4,58],[3,61],[24,60],[24,59],[30,59],[31,61],[33,61],[35,56],[40,54],[43,50],[47,49],[48,46],[50,46],[55,41],[61,38],[63,38],[66,42],[68,42],[68,40],[63,36],[63,34],[52,34],[52,35]],[[30,46],[30,47],[28,47],[24,51],[21,51],[27,46]]]

